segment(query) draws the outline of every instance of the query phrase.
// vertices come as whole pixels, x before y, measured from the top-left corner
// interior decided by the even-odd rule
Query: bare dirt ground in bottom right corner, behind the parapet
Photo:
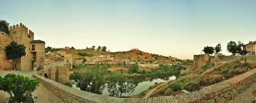
[[[239,94],[234,100],[230,100],[229,103],[253,103],[256,97],[252,92],[256,90],[256,83],[254,83],[250,88],[245,90],[243,93]]]

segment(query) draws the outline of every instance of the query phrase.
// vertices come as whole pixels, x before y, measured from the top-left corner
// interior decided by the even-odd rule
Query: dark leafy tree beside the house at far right
[[[238,41],[238,44],[234,41],[230,41],[227,44],[227,51],[231,52],[232,54],[238,53],[238,51],[241,51],[243,47],[243,43],[241,41]]]

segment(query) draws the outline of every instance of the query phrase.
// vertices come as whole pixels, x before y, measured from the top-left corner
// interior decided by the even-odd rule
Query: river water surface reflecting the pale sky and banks
[[[129,77],[128,79],[132,79],[136,88],[131,95],[136,95],[141,93],[141,91],[147,90],[150,86],[153,86],[155,82],[168,82],[170,80],[175,80],[180,73],[168,73],[168,74],[159,74],[152,76],[137,76],[137,77]],[[75,84],[72,84],[73,88],[76,88]],[[79,88],[76,88],[80,90]],[[103,90],[102,95],[109,95],[107,89]],[[122,96],[129,96],[128,93],[123,93]]]

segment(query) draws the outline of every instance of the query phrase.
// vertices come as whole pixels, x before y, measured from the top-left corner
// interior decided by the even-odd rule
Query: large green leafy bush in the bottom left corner
[[[31,98],[33,93],[39,84],[39,80],[29,79],[29,77],[18,76],[14,73],[3,77],[0,76],[0,90],[7,92],[13,100],[25,102],[26,99]]]

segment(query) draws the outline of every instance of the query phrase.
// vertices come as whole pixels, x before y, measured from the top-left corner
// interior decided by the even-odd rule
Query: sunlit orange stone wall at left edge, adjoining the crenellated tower
[[[10,61],[5,57],[5,47],[12,42],[8,34],[0,31],[0,70],[10,69]]]

